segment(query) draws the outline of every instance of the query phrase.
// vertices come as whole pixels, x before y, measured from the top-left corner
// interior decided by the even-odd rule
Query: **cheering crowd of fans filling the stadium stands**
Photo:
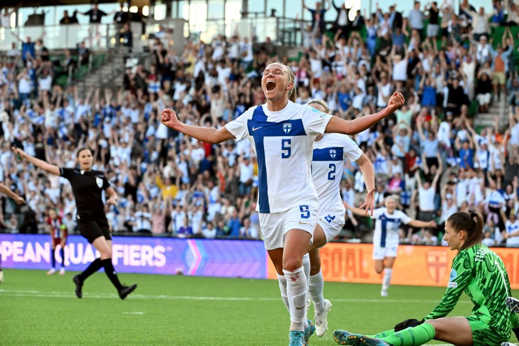
[[[305,6],[312,21],[300,22],[299,59],[278,56],[270,40],[254,43],[238,33],[188,41],[177,54],[159,35],[149,47],[152,64],[128,68],[124,88],[85,95],[53,84],[56,65],[43,38],[20,38],[21,50],[13,45],[0,62],[0,182],[28,205],[0,199],[0,228],[44,232],[45,215],[56,209],[74,230],[75,204],[65,179],[29,170],[11,145],[69,168],[76,148],[88,147],[94,169],[107,172],[121,197],[106,207],[113,231],[260,238],[250,143],[198,142],[161,126],[160,112],[170,107],[185,123],[222,127],[265,102],[263,70],[283,61],[296,76],[298,103],[323,99],[330,113],[345,119],[385,107],[394,91],[406,96],[394,116],[354,138],[374,164],[377,206],[384,196],[397,195],[409,216],[440,224],[402,229],[402,243],[440,245],[442,224],[463,210],[485,215],[485,244],[519,246],[519,79],[512,58],[517,5],[496,0],[494,11],[485,13],[467,0],[459,11],[448,1],[415,2],[403,17],[396,5],[377,4],[376,12],[358,11],[350,21],[349,9],[332,4],[333,23],[322,21],[333,9]],[[89,53],[84,45],[79,54]],[[62,66],[71,54],[65,51]],[[500,98],[508,119],[499,122],[496,114],[495,126],[476,128],[475,114],[488,112]],[[348,163],[343,177],[344,201],[362,204],[366,191],[358,167]],[[339,237],[370,241],[368,218],[347,219]]]

